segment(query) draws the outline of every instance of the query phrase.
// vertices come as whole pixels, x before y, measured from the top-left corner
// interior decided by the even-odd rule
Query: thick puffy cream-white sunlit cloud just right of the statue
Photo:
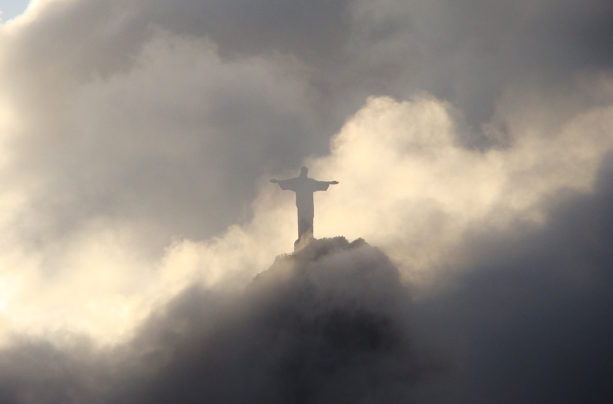
[[[332,140],[330,156],[313,161],[316,175],[343,181],[318,200],[321,232],[366,237],[407,267],[427,269],[457,259],[448,254],[471,227],[542,222],[547,197],[590,191],[613,147],[613,108],[557,115],[552,128],[541,115],[554,111],[526,110],[525,98],[501,107],[509,145],[487,151],[457,143],[444,103],[371,99]]]

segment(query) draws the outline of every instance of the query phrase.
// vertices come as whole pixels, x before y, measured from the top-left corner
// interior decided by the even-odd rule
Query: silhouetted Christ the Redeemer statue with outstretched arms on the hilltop
[[[326,191],[331,184],[338,184],[338,181],[317,181],[307,177],[307,167],[300,169],[300,177],[290,178],[289,180],[270,180],[278,183],[281,189],[289,189],[296,192],[296,207],[298,208],[298,243],[303,239],[313,238],[313,192]]]

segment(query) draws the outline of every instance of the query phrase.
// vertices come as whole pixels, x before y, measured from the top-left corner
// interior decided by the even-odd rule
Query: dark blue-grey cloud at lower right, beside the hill
[[[595,194],[560,192],[543,229],[470,236],[454,290],[417,309],[456,356],[438,402],[613,398],[612,178],[609,154]]]

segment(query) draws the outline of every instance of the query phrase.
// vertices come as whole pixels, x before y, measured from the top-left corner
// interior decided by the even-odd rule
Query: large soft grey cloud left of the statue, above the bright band
[[[48,229],[53,237],[94,215],[153,216],[166,237],[211,235],[245,205],[263,155],[278,156],[277,164],[297,159],[285,151],[299,150],[299,128],[309,126],[303,90],[297,80],[278,78],[283,69],[274,63],[224,62],[210,42],[164,32],[135,63],[128,74],[78,86],[63,108],[31,120],[36,127],[15,141],[12,168],[37,180],[31,210],[59,222]],[[218,215],[203,215],[202,207]]]

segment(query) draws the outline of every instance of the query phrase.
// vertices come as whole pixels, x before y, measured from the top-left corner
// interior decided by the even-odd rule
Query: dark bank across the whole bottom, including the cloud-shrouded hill
[[[320,240],[244,292],[186,289],[107,351],[22,339],[3,351],[2,397],[606,401],[610,163],[593,194],[558,193],[544,226],[466,235],[472,260],[443,288],[412,296],[378,249]]]

